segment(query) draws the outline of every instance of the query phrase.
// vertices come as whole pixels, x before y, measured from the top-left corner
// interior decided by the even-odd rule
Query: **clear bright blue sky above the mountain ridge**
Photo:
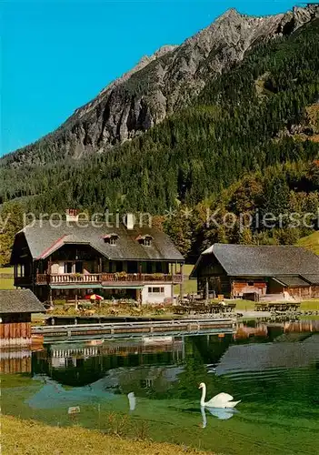
[[[0,155],[59,126],[117,76],[161,45],[180,44],[229,7],[284,12],[289,0],[1,3]]]

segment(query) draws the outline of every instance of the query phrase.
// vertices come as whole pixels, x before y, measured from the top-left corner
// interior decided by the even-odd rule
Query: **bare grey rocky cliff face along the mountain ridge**
[[[166,45],[144,57],[54,133],[21,149],[15,158],[38,161],[44,146],[55,150],[55,156],[76,158],[129,140],[186,106],[207,80],[242,60],[252,45],[288,35],[318,15],[317,5],[265,17],[230,9],[182,45]]]

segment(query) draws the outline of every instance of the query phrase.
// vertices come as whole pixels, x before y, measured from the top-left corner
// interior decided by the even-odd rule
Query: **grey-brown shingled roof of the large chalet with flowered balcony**
[[[127,229],[124,225],[109,227],[106,223],[97,226],[86,223],[60,223],[52,226],[48,221],[36,221],[26,226],[19,234],[24,234],[31,255],[34,259],[47,258],[56,249],[65,244],[87,244],[99,253],[113,260],[174,260],[182,262],[183,256],[174,246],[173,241],[152,227]],[[105,243],[105,236],[116,235],[116,246]],[[141,245],[136,238],[151,236],[151,246]],[[15,246],[14,246],[15,253]]]

